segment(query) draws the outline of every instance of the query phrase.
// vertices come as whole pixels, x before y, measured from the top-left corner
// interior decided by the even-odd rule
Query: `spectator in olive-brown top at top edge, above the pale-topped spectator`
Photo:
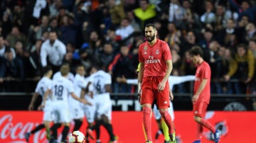
[[[122,0],[108,0],[110,17],[114,27],[118,27],[125,17],[124,4]]]

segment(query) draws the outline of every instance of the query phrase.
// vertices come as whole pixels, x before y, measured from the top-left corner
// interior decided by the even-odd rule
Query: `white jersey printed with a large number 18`
[[[53,80],[51,91],[53,101],[68,102],[68,94],[74,92],[73,83],[61,76],[60,78]]]

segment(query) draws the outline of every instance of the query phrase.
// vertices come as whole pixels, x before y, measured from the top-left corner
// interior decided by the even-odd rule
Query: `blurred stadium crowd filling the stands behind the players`
[[[0,8],[0,91],[31,92],[47,65],[58,71],[100,62],[114,93],[136,86],[144,25],[154,23],[171,48],[172,75],[194,75],[188,55],[203,47],[212,93],[256,93],[256,5],[249,0],[4,0]],[[89,74],[89,72],[87,72]],[[174,92],[190,92],[189,83]]]

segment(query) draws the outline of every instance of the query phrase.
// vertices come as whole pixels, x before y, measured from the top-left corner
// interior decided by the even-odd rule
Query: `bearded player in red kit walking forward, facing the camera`
[[[139,93],[142,104],[143,125],[147,141],[152,142],[151,137],[151,105],[156,99],[161,117],[169,128],[170,142],[176,142],[174,127],[171,124],[171,115],[168,112],[170,106],[168,78],[171,74],[172,57],[169,45],[156,38],[157,30],[154,24],[147,24],[145,36],[147,42],[139,45]],[[171,96],[172,100],[173,96]]]

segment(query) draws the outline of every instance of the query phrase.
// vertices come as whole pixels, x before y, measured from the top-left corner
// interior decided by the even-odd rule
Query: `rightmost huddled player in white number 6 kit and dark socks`
[[[94,127],[90,127],[87,130],[87,133],[91,134],[92,130],[95,130],[100,125],[103,125],[108,134],[110,135],[110,142],[116,143],[113,133],[113,127],[111,124],[112,119],[112,102],[110,100],[110,92],[111,90],[111,75],[102,70],[101,64],[95,64],[92,67],[92,75],[90,75],[89,84],[92,84],[93,87],[93,98],[95,100],[96,106],[96,125]],[[92,135],[90,135],[92,137]]]

